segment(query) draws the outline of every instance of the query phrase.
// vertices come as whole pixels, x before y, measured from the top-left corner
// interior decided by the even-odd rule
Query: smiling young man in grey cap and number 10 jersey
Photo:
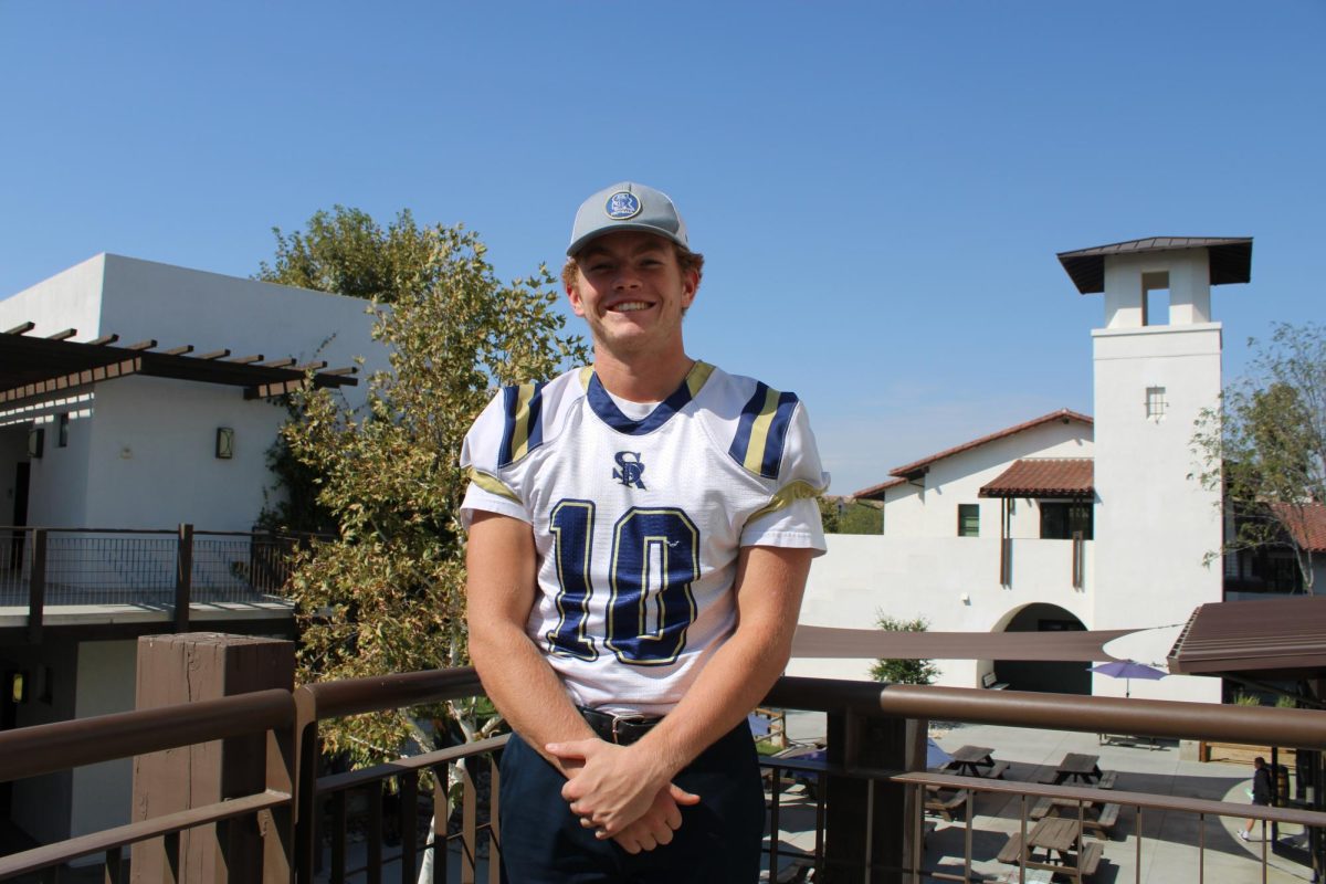
[[[509,387],[465,439],[469,651],[516,732],[507,879],[758,877],[747,714],[782,672],[827,486],[792,394],[686,354],[703,256],[666,195],[575,215],[593,368]]]

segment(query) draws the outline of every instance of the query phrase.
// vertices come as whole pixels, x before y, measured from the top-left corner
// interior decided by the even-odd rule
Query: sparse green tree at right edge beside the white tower
[[[1248,376],[1197,417],[1196,478],[1223,490],[1235,531],[1221,551],[1293,550],[1305,590],[1313,591],[1310,526],[1326,504],[1326,326],[1280,323],[1269,345],[1249,341]]]

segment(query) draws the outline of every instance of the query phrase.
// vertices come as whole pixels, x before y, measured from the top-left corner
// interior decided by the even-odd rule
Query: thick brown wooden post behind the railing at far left
[[[212,700],[294,687],[294,644],[192,632],[138,640],[137,708]],[[134,759],[131,820],[152,819],[227,798],[290,791],[292,734],[255,734],[182,746]],[[130,880],[289,881],[290,810],[182,832],[175,851],[160,839],[133,846]],[[170,840],[170,839],[167,839]]]

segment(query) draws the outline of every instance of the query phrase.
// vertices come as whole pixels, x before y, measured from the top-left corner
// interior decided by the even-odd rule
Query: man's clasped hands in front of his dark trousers
[[[682,827],[682,807],[700,801],[674,785],[671,773],[636,746],[598,738],[545,746],[568,771],[562,798],[581,826],[595,830],[595,838],[611,838],[629,854],[671,843]]]

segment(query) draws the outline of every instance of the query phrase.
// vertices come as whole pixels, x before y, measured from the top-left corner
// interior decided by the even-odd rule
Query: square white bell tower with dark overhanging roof
[[[1078,292],[1105,294],[1105,327],[1091,331],[1091,626],[1184,623],[1223,596],[1219,562],[1203,563],[1223,543],[1221,498],[1191,477],[1191,444],[1197,415],[1220,402],[1221,326],[1211,318],[1211,286],[1249,280],[1252,240],[1155,237],[1058,257]],[[1219,681],[1209,681],[1208,700],[1219,701]],[[1111,685],[1095,692],[1111,693]],[[1163,683],[1155,696],[1164,696]]]

